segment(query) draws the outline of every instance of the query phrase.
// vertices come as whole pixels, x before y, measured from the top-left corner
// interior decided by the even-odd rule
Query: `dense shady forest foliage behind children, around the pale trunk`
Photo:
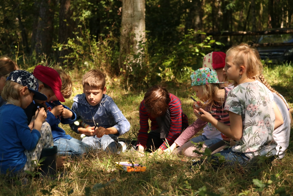
[[[257,39],[209,38],[201,32],[292,27],[293,7],[289,2],[146,0],[147,41],[140,43],[139,54],[125,59],[123,63],[131,67],[125,70],[118,63],[122,1],[3,0],[0,55],[10,56],[23,68],[40,63],[69,69],[101,68],[136,87],[161,80],[184,82],[184,74],[200,67],[202,54]],[[40,46],[38,41],[44,35],[46,44]]]

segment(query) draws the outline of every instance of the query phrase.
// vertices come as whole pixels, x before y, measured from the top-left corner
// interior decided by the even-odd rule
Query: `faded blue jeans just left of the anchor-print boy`
[[[57,155],[60,156],[81,156],[84,153],[87,153],[87,150],[90,148],[86,143],[83,143],[80,140],[71,138],[70,140],[65,138],[60,138],[54,141],[54,146],[58,147]]]

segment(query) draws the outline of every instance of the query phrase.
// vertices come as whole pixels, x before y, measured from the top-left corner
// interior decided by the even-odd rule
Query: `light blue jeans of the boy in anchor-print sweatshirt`
[[[118,138],[113,134],[103,135],[101,138],[97,138],[96,136],[86,136],[82,138],[81,141],[86,143],[93,150],[101,149],[113,153],[120,151],[117,144]]]

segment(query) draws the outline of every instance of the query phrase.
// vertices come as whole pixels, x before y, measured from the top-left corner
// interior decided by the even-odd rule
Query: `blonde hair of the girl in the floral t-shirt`
[[[233,56],[232,62],[238,68],[240,66],[246,67],[246,75],[250,79],[256,79],[263,71],[263,64],[260,61],[258,51],[255,48],[249,47],[247,43],[232,46],[226,54],[227,56]]]

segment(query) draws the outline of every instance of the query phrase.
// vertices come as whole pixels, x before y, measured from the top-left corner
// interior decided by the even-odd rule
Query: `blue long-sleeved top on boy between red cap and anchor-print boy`
[[[54,101],[57,105],[62,105],[59,101]],[[65,138],[70,140],[72,137],[70,135],[66,135],[65,131],[58,127],[59,123],[64,125],[74,123],[76,120],[76,114],[66,105],[62,105],[64,108],[70,110],[72,112],[71,118],[63,118],[61,115],[54,116],[50,111],[55,107],[53,103],[46,102],[47,105],[47,122],[51,126],[53,140],[56,141],[60,138]]]

